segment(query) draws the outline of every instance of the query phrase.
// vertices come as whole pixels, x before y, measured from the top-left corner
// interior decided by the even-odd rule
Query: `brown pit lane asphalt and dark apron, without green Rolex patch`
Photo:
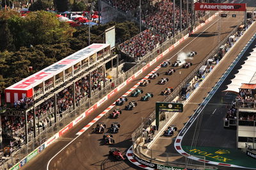
[[[218,82],[221,75],[227,70],[228,66],[236,58],[239,52],[243,49],[244,45],[250,40],[250,38],[255,34],[256,23],[247,31],[246,35],[237,42],[237,45],[228,53],[227,57],[221,61],[216,70],[213,71],[211,77],[207,77],[207,80],[198,91],[189,98],[189,102],[184,107],[184,112],[180,113],[173,121],[172,125],[177,125],[178,130],[180,131],[184,124],[189,120],[190,116],[195,112],[197,107],[202,103],[205,97],[207,97],[209,91],[212,87]],[[255,45],[256,42],[253,42]],[[198,116],[197,120],[193,123],[191,128],[182,139],[182,146],[211,146],[218,148],[236,148],[236,130],[223,128],[223,118],[227,112],[227,104],[230,105],[232,98],[235,96],[230,93],[221,93],[225,89],[225,84],[229,84],[228,79],[234,78],[234,73],[237,73],[237,68],[240,68],[239,65],[243,63],[243,59],[239,61],[234,71],[232,71],[221,85],[220,89],[216,92],[214,97],[209,101],[206,108],[202,111],[202,117]],[[175,132],[172,137],[159,137],[152,146],[153,157],[158,158],[159,160],[166,160],[166,155],[164,152],[174,153],[173,159],[169,160],[180,163],[184,162],[184,158],[180,155],[177,156],[177,151],[175,150],[173,143],[174,139],[179,132]],[[198,135],[194,138],[194,135]],[[194,139],[194,143],[192,143]],[[195,148],[195,147],[193,147]],[[170,155],[171,156],[171,155]],[[244,155],[245,157],[245,155]],[[195,161],[193,163],[196,163]],[[210,165],[211,166],[211,165]],[[231,169],[228,167],[218,167],[219,169]]]

